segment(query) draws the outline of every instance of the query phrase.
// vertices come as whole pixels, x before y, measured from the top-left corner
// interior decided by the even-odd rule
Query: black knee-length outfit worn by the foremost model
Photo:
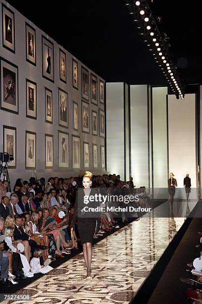
[[[91,189],[90,196],[95,195],[95,189]],[[79,236],[81,238],[81,243],[93,243],[93,236],[96,230],[96,218],[100,217],[99,212],[81,212],[86,206],[96,208],[99,206],[98,202],[89,202],[84,204],[84,190],[78,190],[77,199],[74,206],[74,217],[72,224],[74,225],[77,218],[77,228]]]

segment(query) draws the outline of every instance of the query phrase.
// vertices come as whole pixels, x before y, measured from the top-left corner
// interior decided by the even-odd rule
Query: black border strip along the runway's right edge
[[[158,284],[165,268],[167,267],[171,257],[173,256],[176,248],[178,247],[180,241],[182,240],[185,232],[189,228],[193,218],[197,215],[197,210],[199,207],[202,206],[202,200],[198,201],[192,212],[190,213],[187,220],[184,222],[182,227],[178,230],[178,232],[173,237],[172,241],[169,243],[163,254],[161,255],[160,259],[157,261],[155,266],[153,267],[151,273],[148,275],[147,279],[140,286],[137,293],[133,297],[133,299],[129,302],[129,304],[147,304],[152,296],[152,293]],[[156,304],[161,304],[156,302]]]

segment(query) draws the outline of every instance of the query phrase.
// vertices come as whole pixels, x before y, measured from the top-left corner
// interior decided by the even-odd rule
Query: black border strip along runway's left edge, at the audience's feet
[[[158,207],[159,205],[163,204],[166,199],[156,199],[156,200],[153,200],[155,202],[155,208]],[[142,214],[144,215],[144,214]],[[94,241],[93,241],[93,244],[97,244],[98,242],[100,242],[103,238],[105,238],[106,236],[118,231],[119,229],[127,226],[128,224],[134,222],[134,221],[137,221],[139,218],[134,218],[130,221],[124,221],[122,222],[122,220],[120,219],[115,219],[115,220],[118,220],[118,223],[117,225],[119,226],[119,228],[117,229],[112,229],[110,231],[107,231],[105,232],[102,236],[98,236],[98,238],[94,238]],[[63,264],[64,262],[70,260],[71,258],[73,258],[74,256],[76,256],[77,254],[81,253],[83,251],[82,249],[82,245],[81,244],[78,244],[78,249],[71,249],[71,254],[63,254],[65,257],[64,258],[56,258],[55,261],[51,262],[50,263],[50,266],[52,268],[56,268],[58,266],[60,266],[61,264]],[[47,275],[47,274],[46,274]],[[38,280],[39,278],[43,277],[44,274],[42,273],[37,273],[37,274],[34,274],[34,277],[32,278],[26,278],[26,279],[21,279],[18,284],[15,284],[15,285],[11,285],[9,287],[3,287],[1,282],[0,282],[0,293],[1,294],[15,294],[16,292],[18,292],[19,290],[21,290],[22,288],[30,285],[31,283],[33,283],[34,281]],[[0,301],[1,302],[1,301]]]

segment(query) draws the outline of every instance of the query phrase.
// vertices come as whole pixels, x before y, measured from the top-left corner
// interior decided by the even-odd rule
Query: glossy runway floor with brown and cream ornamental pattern
[[[174,218],[154,217],[160,208],[93,246],[92,281],[78,254],[18,293],[31,295],[29,304],[129,303],[176,233]]]

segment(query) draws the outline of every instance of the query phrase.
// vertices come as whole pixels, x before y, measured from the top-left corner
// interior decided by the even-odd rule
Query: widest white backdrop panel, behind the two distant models
[[[186,172],[189,172],[193,191],[196,196],[197,159],[196,159],[196,95],[186,94],[185,99],[168,95],[168,149],[169,172],[177,179],[178,187],[183,188]],[[177,193],[184,197],[185,193]]]

